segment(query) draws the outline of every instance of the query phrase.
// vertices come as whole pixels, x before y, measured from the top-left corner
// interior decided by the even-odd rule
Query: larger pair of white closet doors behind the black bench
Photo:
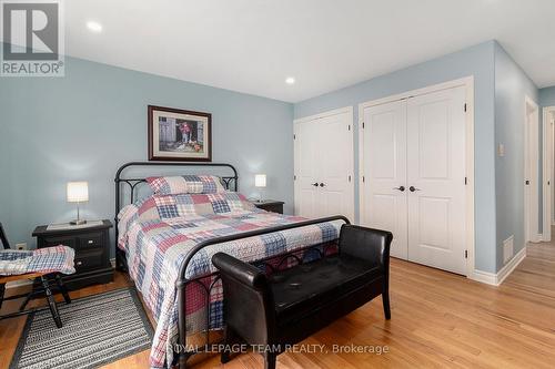
[[[464,86],[365,107],[361,223],[392,256],[466,274]]]

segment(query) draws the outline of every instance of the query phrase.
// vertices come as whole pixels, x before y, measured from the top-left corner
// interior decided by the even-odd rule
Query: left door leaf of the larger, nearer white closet
[[[390,230],[391,255],[406,259],[406,101],[364,109],[362,135],[361,223]]]

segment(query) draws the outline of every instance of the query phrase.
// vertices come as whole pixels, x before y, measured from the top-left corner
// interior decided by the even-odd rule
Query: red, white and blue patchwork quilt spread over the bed
[[[175,283],[185,256],[195,245],[219,236],[305,221],[256,209],[243,195],[232,192],[155,194],[124,207],[119,219],[119,247],[125,250],[129,274],[157,320],[150,355],[152,368],[163,368],[173,360],[179,332]],[[186,278],[206,276],[201,283],[209,287],[215,279],[210,276],[216,271],[211,263],[215,253],[246,262],[265,259],[333,242],[342,224],[329,222],[205,247],[192,258]],[[186,287],[188,335],[222,327],[221,284],[214,285],[210,296],[205,290],[196,283]]]

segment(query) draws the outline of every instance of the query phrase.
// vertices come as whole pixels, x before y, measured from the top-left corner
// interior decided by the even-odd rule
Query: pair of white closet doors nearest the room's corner
[[[295,214],[354,221],[352,111],[295,123]]]

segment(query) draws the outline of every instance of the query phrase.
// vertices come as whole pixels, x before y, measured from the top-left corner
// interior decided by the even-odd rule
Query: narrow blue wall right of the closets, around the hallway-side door
[[[505,145],[505,156],[496,155],[495,157],[497,270],[503,267],[504,239],[514,235],[515,254],[524,247],[525,95],[537,102],[536,85],[505,50],[495,43],[495,142]],[[542,152],[541,148],[539,152]],[[539,158],[542,160],[541,155]],[[538,163],[538,168],[542,170],[542,163]],[[542,181],[538,181],[536,185],[541,196],[539,204],[542,204]],[[541,229],[542,206],[538,209]]]

